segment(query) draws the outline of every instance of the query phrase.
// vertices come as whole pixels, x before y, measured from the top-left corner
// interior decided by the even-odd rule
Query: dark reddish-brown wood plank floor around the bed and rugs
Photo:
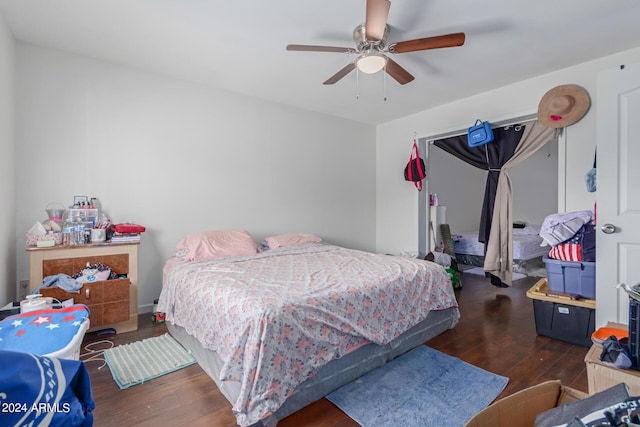
[[[588,349],[536,334],[533,303],[526,296],[536,281],[525,278],[511,288],[496,288],[484,277],[463,274],[463,289],[456,291],[460,322],[427,345],[508,377],[509,383],[498,398],[550,379],[586,392],[584,357]],[[136,332],[101,337],[87,334],[83,346],[102,339],[120,345],[166,332],[165,325],[151,322],[150,314],[139,320]],[[126,390],[118,388],[107,366],[100,368],[102,362],[86,365],[96,401],[96,426],[236,425],[231,404],[197,364]],[[358,424],[321,399],[278,426]]]

